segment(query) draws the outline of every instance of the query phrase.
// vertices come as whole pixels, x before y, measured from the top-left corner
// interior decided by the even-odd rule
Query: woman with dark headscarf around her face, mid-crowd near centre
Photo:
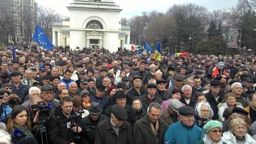
[[[133,100],[133,108],[135,109],[136,113],[135,113],[135,120],[139,120],[141,118],[143,118],[143,116],[145,116],[146,110],[144,110],[142,104],[141,104],[141,100],[140,99],[134,99]]]

